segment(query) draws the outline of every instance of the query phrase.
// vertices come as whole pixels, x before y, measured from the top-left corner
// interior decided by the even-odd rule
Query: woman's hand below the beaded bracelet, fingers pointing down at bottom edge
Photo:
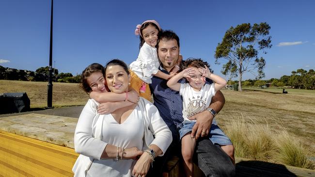
[[[152,162],[152,158],[148,153],[143,153],[140,159],[136,162],[135,166],[133,167],[132,174],[135,177],[145,177],[148,173],[150,164]]]

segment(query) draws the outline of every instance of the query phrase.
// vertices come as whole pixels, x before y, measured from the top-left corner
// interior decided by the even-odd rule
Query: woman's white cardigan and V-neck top
[[[75,177],[131,176],[135,160],[100,159],[107,144],[142,150],[155,144],[163,154],[171,144],[172,133],[157,108],[142,97],[121,124],[111,114],[97,114],[97,105],[90,99],[79,117],[74,137],[75,150],[80,154],[72,169]]]

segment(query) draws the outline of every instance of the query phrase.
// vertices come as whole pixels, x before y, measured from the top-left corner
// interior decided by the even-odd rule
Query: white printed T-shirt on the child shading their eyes
[[[214,83],[205,84],[200,91],[194,90],[189,83],[185,83],[180,84],[179,94],[183,97],[183,118],[189,120],[189,117],[205,111],[216,93]]]

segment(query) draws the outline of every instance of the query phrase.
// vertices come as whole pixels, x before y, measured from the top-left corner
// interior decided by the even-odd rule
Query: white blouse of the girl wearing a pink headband
[[[143,82],[151,84],[152,74],[157,74],[159,65],[157,49],[144,43],[140,48],[138,59],[129,65],[129,69]]]

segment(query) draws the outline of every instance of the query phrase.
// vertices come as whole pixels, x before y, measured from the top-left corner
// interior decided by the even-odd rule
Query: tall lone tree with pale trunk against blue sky
[[[265,49],[272,46],[269,29],[267,23],[253,25],[243,23],[235,28],[231,27],[225,32],[222,42],[216,48],[214,55],[216,64],[220,64],[219,59],[225,59],[222,74],[229,71],[238,75],[240,91],[242,91],[241,82],[244,73],[250,72],[256,75],[256,79],[265,77],[266,61],[262,57],[259,58],[258,53],[262,50],[266,54]]]

